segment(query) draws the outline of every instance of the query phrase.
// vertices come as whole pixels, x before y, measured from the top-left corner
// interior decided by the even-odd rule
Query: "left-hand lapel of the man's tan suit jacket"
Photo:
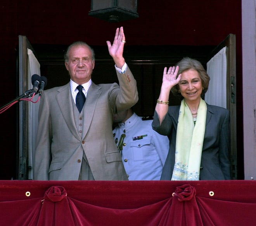
[[[61,109],[61,114],[66,121],[67,126],[69,127],[71,133],[74,137],[81,140],[80,135],[78,134],[76,123],[74,120],[74,113],[73,113],[73,105],[72,105],[72,98],[71,98],[71,91],[70,91],[70,84],[67,83],[66,85],[59,87],[56,94],[57,103]]]

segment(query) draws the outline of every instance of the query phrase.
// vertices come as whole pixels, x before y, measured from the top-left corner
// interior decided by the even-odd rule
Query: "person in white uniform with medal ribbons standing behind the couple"
[[[152,116],[139,117],[128,109],[114,116],[113,136],[129,180],[160,180],[169,139],[152,129]]]

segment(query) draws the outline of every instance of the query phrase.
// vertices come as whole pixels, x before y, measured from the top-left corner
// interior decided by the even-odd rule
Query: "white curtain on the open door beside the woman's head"
[[[207,73],[211,80],[205,101],[208,104],[227,108],[227,56],[226,49],[221,49],[207,63]]]

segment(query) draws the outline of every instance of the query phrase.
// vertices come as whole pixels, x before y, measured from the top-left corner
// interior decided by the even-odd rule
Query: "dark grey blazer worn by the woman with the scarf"
[[[161,180],[171,180],[175,164],[176,133],[180,105],[169,106],[161,126],[154,113],[152,128],[170,140]],[[230,113],[223,107],[207,104],[206,128],[202,147],[200,180],[230,180]],[[186,142],[186,141],[184,141]]]

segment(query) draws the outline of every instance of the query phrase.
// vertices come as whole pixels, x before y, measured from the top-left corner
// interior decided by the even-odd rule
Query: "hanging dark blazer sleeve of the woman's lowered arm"
[[[220,158],[220,165],[221,170],[224,174],[226,180],[231,179],[231,172],[230,172],[230,161],[229,161],[229,154],[230,154],[230,113],[227,110],[225,119],[221,126],[220,131],[220,149],[219,149],[219,158]]]

